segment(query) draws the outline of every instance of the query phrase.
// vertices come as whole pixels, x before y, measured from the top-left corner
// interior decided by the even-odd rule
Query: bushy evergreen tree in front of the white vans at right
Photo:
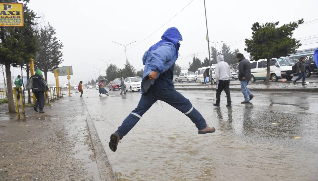
[[[247,48],[244,50],[254,57],[252,60],[267,59],[265,84],[268,84],[270,79],[270,59],[289,56],[296,53],[297,48],[301,46],[300,41],[292,36],[293,31],[303,22],[304,19],[300,19],[279,28],[276,27],[279,22],[267,22],[263,25],[256,22],[252,25],[252,39],[245,39]]]

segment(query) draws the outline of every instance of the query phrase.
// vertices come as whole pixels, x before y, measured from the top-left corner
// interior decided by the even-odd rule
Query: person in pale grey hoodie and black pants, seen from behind
[[[224,61],[223,55],[217,56],[217,65],[215,66],[215,80],[217,82],[217,100],[213,106],[220,107],[220,96],[224,89],[227,98],[226,107],[232,107],[231,96],[230,96],[230,78],[231,70],[228,63]]]

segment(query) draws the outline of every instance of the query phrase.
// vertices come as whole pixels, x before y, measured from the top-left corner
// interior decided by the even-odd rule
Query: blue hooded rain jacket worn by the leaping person
[[[168,28],[162,35],[161,41],[152,45],[143,55],[142,63],[145,65],[142,74],[141,93],[148,89],[165,90],[173,88],[172,78],[175,62],[179,56],[178,50],[182,36],[175,27]],[[151,71],[158,72],[154,81],[148,75]]]

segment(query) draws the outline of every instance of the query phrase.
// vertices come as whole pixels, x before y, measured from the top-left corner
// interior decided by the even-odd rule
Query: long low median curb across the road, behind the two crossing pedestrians
[[[179,88],[175,87],[176,90],[216,90],[216,88]],[[318,88],[249,88],[250,91],[262,91],[262,92],[313,92],[318,93]],[[230,88],[231,91],[241,91],[241,88]]]

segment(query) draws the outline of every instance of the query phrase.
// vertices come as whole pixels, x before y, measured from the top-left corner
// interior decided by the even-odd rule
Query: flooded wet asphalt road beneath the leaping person
[[[108,91],[108,89],[107,89]],[[199,135],[183,113],[157,101],[122,139],[111,133],[137,106],[140,92],[84,89],[84,101],[119,180],[317,180],[318,94],[231,92],[232,108],[213,107],[214,91],[180,91],[215,133]],[[79,96],[75,94],[73,96]],[[294,139],[295,137],[300,137]]]

